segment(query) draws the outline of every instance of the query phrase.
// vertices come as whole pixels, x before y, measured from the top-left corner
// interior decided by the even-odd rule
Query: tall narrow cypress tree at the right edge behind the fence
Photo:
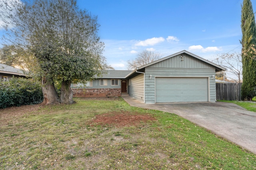
[[[241,15],[242,28],[242,66],[243,84],[242,99],[251,100],[256,88],[256,61],[253,60],[252,45],[256,45],[256,23],[252,9],[252,2],[244,0]]]

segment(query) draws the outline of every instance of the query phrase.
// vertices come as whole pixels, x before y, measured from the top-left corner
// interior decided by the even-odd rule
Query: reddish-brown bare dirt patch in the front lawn
[[[141,123],[147,121],[156,121],[152,115],[141,115],[136,113],[130,113],[122,111],[120,112],[111,112],[104,113],[101,115],[96,115],[96,118],[92,120],[92,123],[99,125],[115,125],[117,127],[124,126],[138,126]],[[92,124],[93,125],[93,124]]]

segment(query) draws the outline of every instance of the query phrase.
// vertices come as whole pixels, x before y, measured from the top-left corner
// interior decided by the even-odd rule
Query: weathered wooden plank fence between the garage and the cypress
[[[241,100],[242,83],[216,83],[216,100]]]

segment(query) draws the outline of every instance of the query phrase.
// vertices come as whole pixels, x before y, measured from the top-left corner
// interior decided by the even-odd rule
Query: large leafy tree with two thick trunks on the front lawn
[[[72,104],[70,84],[91,80],[106,65],[97,17],[76,0],[3,0],[1,8],[4,39],[34,55],[46,104]],[[62,83],[60,98],[54,81]]]

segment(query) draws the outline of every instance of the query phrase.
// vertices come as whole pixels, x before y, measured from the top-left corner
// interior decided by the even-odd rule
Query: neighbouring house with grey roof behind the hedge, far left
[[[0,63],[0,78],[1,81],[8,82],[10,78],[14,77],[26,77],[23,71],[19,68],[8,66],[6,64]]]

